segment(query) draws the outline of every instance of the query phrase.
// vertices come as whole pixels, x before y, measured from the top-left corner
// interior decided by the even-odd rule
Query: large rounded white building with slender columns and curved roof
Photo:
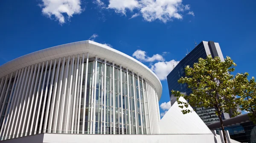
[[[0,66],[0,139],[157,134],[161,94],[148,67],[105,45],[44,49]]]

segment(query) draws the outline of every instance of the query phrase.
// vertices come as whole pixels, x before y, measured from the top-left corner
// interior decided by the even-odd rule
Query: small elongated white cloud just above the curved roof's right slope
[[[159,55],[159,54],[155,54],[152,57],[148,57],[146,55],[146,52],[143,50],[136,50],[132,56],[134,56],[136,59],[140,60],[140,61],[144,61],[144,62],[154,62],[154,61],[164,61],[165,59],[163,58],[163,56]]]

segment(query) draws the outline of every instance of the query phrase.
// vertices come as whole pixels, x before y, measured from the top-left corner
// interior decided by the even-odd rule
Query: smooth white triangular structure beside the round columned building
[[[180,101],[186,102],[184,98]],[[189,106],[192,111],[192,107]],[[163,134],[212,134],[204,121],[196,112],[190,112],[183,115],[181,108],[178,107],[177,101],[166,112],[159,122],[160,133]]]

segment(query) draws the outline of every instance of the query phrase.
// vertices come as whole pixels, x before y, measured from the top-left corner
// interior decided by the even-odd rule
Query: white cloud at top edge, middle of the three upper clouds
[[[108,8],[112,8],[116,13],[122,13],[126,15],[126,10],[133,11],[134,8],[139,7],[137,0],[109,0]]]

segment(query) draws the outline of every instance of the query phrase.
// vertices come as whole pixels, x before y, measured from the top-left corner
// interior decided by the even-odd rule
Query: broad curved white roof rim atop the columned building
[[[15,72],[20,68],[32,64],[60,57],[62,58],[64,56],[78,55],[81,53],[89,53],[89,58],[98,55],[99,58],[106,58],[111,62],[115,61],[116,64],[122,64],[122,67],[128,67],[129,70],[134,70],[134,73],[139,73],[140,76],[143,75],[143,78],[148,79],[154,85],[157,91],[158,100],[160,100],[162,95],[162,84],[152,70],[125,53],[90,40],[73,42],[44,50],[38,50],[36,52],[13,59],[12,61],[0,66],[0,77],[6,76],[9,73]]]

